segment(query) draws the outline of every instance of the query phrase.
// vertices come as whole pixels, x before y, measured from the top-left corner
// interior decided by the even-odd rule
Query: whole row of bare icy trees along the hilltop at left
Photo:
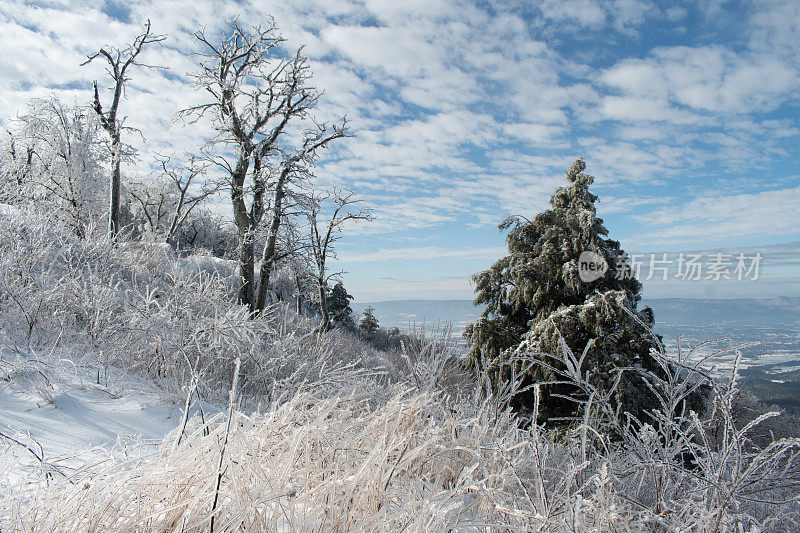
[[[203,101],[178,117],[210,125],[194,153],[156,155],[154,178],[123,179],[124,164],[136,157],[126,141],[136,131],[125,123],[126,89],[137,70],[167,68],[142,60],[167,39],[148,20],[127,46],[100,47],[82,63],[102,61],[110,82],[107,90],[92,84],[88,106],[34,100],[17,118],[2,153],[3,201],[47,204],[79,237],[107,216],[114,241],[148,234],[174,247],[227,251],[238,262],[238,302],[252,315],[274,293],[279,264],[288,264],[298,308],[302,294],[315,293],[327,329],[329,285],[341,274],[330,267],[335,243],[347,224],[372,219],[351,191],[319,189],[313,175],[320,152],[352,135],[349,125],[344,117],[315,120],[322,93],[309,59],[302,47],[287,49],[271,18],[252,27],[228,21],[221,33],[193,36],[198,61],[189,76]],[[230,199],[233,232],[208,207],[219,195]]]

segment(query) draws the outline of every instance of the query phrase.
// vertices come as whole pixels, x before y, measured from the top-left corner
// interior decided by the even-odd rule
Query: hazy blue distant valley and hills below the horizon
[[[661,298],[645,300],[643,305],[653,309],[655,332],[663,337],[667,353],[677,355],[680,346],[686,354],[696,347],[691,357],[707,358],[706,364],[724,377],[736,354],[714,352],[742,347],[739,361],[745,385],[764,402],[800,414],[800,298]],[[471,300],[396,300],[352,308],[360,316],[367,306],[375,308],[383,327],[430,331],[437,324],[440,329],[452,324],[456,336],[481,311]]]

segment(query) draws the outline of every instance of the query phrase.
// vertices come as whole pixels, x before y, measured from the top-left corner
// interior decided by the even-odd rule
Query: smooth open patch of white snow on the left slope
[[[0,335],[0,494],[20,495],[48,473],[154,451],[183,407],[153,381],[18,351]]]

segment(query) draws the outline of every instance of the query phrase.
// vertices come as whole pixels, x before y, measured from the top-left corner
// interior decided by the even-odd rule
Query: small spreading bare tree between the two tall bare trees
[[[172,164],[170,157],[158,156],[157,160],[161,166],[158,179],[131,187],[130,194],[148,231],[161,234],[174,245],[178,230],[192,211],[220,186],[206,179],[207,164],[194,156],[186,166]]]

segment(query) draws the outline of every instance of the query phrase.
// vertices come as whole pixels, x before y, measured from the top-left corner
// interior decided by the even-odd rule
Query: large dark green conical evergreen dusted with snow
[[[589,192],[594,178],[583,173],[585,168],[581,159],[572,164],[568,184],[550,199],[551,209],[533,220],[509,217],[500,224],[501,230],[510,228],[509,253],[473,276],[475,304],[486,308],[467,327],[468,362],[486,372],[495,392],[519,380],[519,392],[510,401],[521,413],[532,411],[531,385],[539,384],[538,420],[552,423],[577,416],[574,400],[586,399],[561,378],[566,366],[560,339],[575,354],[591,341],[581,365],[586,379],[608,393],[621,416],[628,412],[649,421],[656,401],[642,373],[661,372],[650,355],[655,341],[644,326],[652,326],[653,313],[637,310],[642,286],[619,242],[606,238],[608,231],[596,216],[597,197]],[[590,282],[579,276],[585,251],[602,256],[609,267]]]

